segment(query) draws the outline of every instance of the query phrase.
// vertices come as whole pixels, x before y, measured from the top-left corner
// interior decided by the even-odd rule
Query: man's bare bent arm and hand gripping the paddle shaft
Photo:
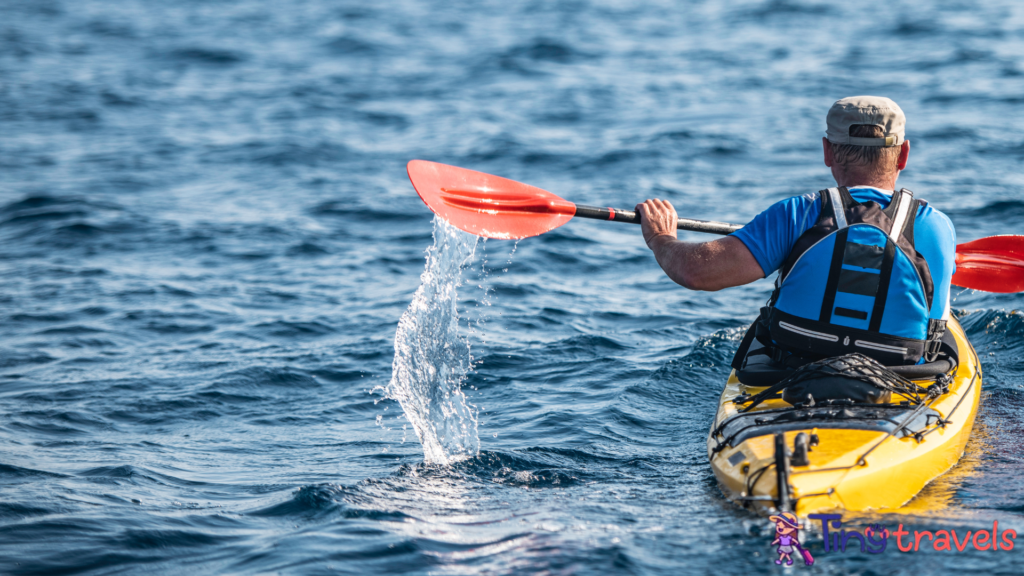
[[[690,290],[721,290],[750,284],[765,277],[761,264],[739,239],[731,236],[712,242],[680,242],[679,216],[667,200],[637,204],[647,247],[674,282]]]

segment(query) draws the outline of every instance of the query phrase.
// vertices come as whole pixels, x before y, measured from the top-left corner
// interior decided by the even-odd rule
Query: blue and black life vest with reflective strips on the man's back
[[[845,187],[818,194],[821,215],[794,245],[733,365],[753,337],[788,366],[855,352],[887,366],[933,360],[945,321],[929,317],[932,275],[913,244],[921,201],[906,189],[885,209]]]

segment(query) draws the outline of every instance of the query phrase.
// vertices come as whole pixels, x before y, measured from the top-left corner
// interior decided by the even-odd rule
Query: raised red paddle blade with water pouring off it
[[[457,229],[484,238],[538,236],[575,214],[575,204],[515,180],[425,160],[413,160],[407,169],[428,208]]]

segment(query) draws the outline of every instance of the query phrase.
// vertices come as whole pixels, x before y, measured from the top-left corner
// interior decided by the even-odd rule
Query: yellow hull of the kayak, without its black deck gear
[[[879,429],[810,427],[784,433],[788,447],[801,431],[818,438],[818,445],[808,454],[809,464],[790,469],[790,497],[798,516],[899,508],[959,460],[978,413],[981,363],[956,320],[949,321],[947,330],[956,339],[959,366],[948,393],[928,403],[945,420],[943,425],[933,423],[924,435],[902,438]],[[931,382],[920,383],[927,386]],[[733,399],[762,389],[742,384],[733,371],[722,390],[713,434],[708,438],[708,455],[726,497],[760,513],[770,513],[778,497],[774,437],[746,438],[716,451],[725,439],[714,435],[723,421],[738,413]],[[753,412],[788,406],[782,400],[769,400]]]

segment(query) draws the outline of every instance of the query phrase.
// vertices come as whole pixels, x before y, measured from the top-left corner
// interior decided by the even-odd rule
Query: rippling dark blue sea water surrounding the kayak
[[[901,186],[961,240],[1024,234],[1016,2],[2,10],[0,573],[774,573],[703,444],[769,282],[688,292],[636,227],[573,221],[514,254],[453,237],[462,285],[421,284],[413,158],[741,222],[831,183],[824,114],[876,93],[908,116]],[[421,286],[458,292],[419,312]],[[1024,531],[1022,303],[955,294],[985,370],[967,455],[864,522]],[[438,351],[410,375],[450,355],[446,401],[382,394],[425,382],[402,337]]]

